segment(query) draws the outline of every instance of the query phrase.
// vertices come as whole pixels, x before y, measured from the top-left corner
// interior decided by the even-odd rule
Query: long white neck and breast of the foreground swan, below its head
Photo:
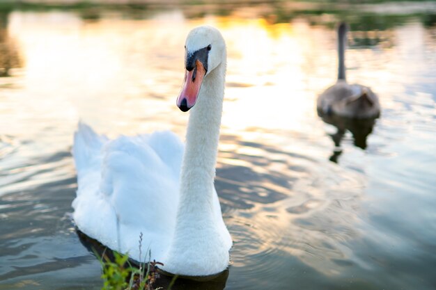
[[[217,220],[221,211],[214,209],[218,200],[214,178],[225,72],[226,64],[221,63],[205,76],[189,116],[176,225],[164,266],[170,273],[209,275],[222,271],[228,263],[228,248],[221,238],[224,223]],[[224,257],[224,264],[217,262],[223,258],[214,255]],[[202,268],[204,263],[207,268]]]

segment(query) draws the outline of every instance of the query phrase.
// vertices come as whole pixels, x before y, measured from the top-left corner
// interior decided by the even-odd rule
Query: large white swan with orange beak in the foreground
[[[228,266],[232,245],[214,186],[226,45],[217,29],[201,26],[185,50],[177,105],[188,111],[195,104],[185,151],[170,131],[109,140],[79,124],[73,218],[81,232],[137,261],[150,250],[169,273],[214,275]]]

